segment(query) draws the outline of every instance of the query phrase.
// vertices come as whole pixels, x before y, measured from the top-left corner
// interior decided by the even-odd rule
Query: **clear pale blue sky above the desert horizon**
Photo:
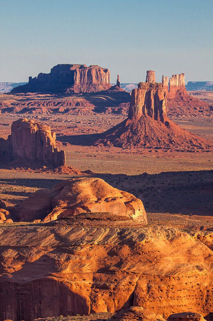
[[[109,68],[111,82],[149,69],[213,81],[212,0],[5,0],[0,13],[0,82],[57,64]]]

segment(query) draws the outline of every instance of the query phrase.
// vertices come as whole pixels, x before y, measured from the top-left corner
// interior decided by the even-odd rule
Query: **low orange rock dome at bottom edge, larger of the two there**
[[[140,321],[166,321],[161,315],[153,311],[146,310],[142,307],[130,307],[121,310],[114,314],[109,321],[127,321],[127,320],[140,320]]]

